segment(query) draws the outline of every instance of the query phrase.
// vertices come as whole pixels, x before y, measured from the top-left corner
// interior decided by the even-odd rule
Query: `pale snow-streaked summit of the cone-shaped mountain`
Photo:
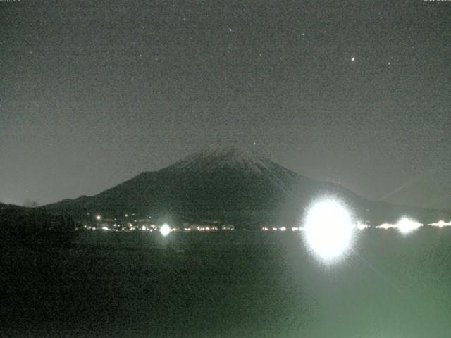
[[[239,169],[262,173],[271,161],[231,144],[214,144],[174,163],[166,170]]]

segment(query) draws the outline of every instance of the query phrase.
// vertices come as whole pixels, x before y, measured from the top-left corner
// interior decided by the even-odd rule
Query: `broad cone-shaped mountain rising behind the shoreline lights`
[[[51,213],[101,213],[122,218],[218,221],[245,227],[295,225],[314,199],[334,196],[359,220],[395,222],[409,215],[423,223],[450,218],[431,209],[369,201],[349,189],[320,182],[235,146],[213,146],[155,172],[144,172],[95,196],[66,199],[42,208]]]

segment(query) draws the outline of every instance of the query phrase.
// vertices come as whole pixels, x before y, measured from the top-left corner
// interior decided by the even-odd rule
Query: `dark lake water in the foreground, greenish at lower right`
[[[449,229],[365,230],[333,265],[292,232],[82,232],[0,260],[0,337],[451,337]]]

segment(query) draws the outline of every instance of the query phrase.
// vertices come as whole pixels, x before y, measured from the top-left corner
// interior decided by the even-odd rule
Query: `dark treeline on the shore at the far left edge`
[[[31,249],[69,246],[75,238],[75,221],[69,215],[51,215],[35,208],[0,207],[0,244]]]

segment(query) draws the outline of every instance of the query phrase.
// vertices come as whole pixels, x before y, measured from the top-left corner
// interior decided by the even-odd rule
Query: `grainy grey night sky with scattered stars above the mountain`
[[[216,142],[451,208],[451,2],[0,2],[0,201],[92,195]]]

